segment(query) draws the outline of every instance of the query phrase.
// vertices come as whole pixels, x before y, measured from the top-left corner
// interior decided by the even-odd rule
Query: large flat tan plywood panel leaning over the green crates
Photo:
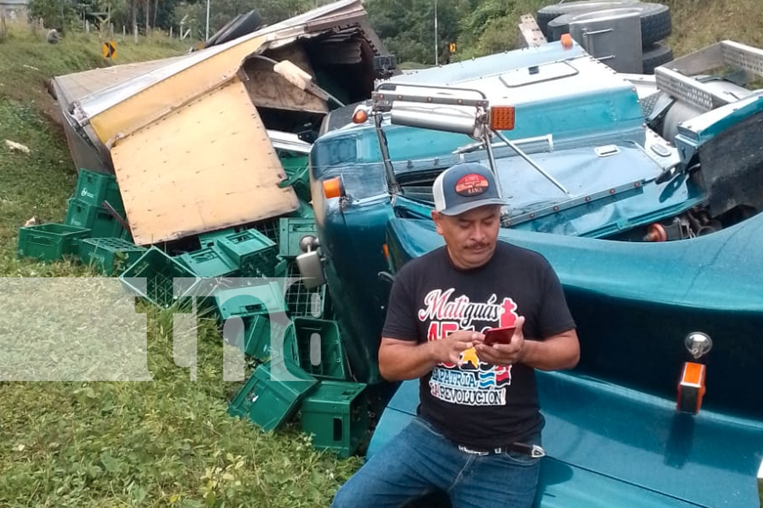
[[[196,235],[298,208],[238,78],[111,149],[136,244]]]

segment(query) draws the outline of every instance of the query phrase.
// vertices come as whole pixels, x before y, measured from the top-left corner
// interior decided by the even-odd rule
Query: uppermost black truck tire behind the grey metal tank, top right
[[[633,3],[629,5],[620,5],[617,8],[607,9],[607,14],[638,11],[641,15],[641,41],[642,46],[649,46],[659,40],[665,39],[671,34],[672,22],[670,8],[667,5],[655,3]],[[563,14],[559,18],[549,21],[548,30],[549,40],[559,40],[562,34],[567,34],[570,30],[569,24],[572,21],[581,21],[594,19],[604,14],[604,11],[588,11],[579,14]]]

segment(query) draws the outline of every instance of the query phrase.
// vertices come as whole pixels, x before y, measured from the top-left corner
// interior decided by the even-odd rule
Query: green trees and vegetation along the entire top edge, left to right
[[[449,43],[456,43],[451,61],[470,59],[497,51],[516,48],[520,15],[534,14],[544,5],[558,0],[367,0],[372,25],[398,62],[433,64],[435,53],[434,11],[437,5],[437,52],[446,59]],[[256,9],[262,21],[272,24],[307,11],[330,0],[216,0],[210,11],[210,34],[237,14]],[[668,40],[676,55],[713,43],[733,34],[742,43],[758,44],[763,40],[758,27],[763,11],[757,0],[663,0],[671,7],[674,35]],[[43,18],[46,26],[66,28],[65,33],[82,30],[82,11],[111,11],[111,22],[121,32],[131,32],[133,21],[140,34],[159,28],[166,34],[172,27],[179,33],[191,28],[191,36],[204,38],[206,2],[204,0],[92,0],[65,2],[32,0],[34,18]],[[146,18],[146,8],[149,17]],[[61,14],[63,12],[63,15]],[[85,16],[85,18],[88,18]],[[90,16],[91,23],[95,17]],[[150,31],[150,30],[149,30]]]

